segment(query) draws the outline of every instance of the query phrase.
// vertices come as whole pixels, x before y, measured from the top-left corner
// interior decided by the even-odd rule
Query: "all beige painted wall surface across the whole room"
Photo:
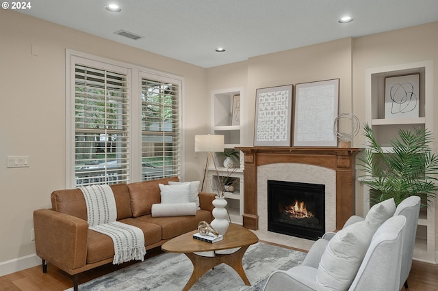
[[[253,146],[256,89],[339,79],[339,113],[365,117],[365,70],[438,60],[438,22],[349,37],[203,68],[70,29],[12,10],[0,10],[2,84],[0,275],[40,264],[31,230],[32,212],[49,208],[50,193],[65,189],[66,50],[122,61],[184,79],[181,180],[201,180],[206,156],[194,136],[211,132],[210,92],[244,87],[242,146]],[[409,40],[409,41],[407,41]],[[38,46],[32,55],[31,46]],[[438,84],[437,68],[433,83]],[[437,102],[433,111],[438,109]],[[437,135],[437,120],[430,126]],[[363,145],[357,135],[353,146]],[[436,145],[435,149],[436,149]],[[30,166],[10,169],[6,156],[30,156]],[[363,185],[355,184],[355,212],[363,215]],[[438,215],[435,214],[435,221]],[[438,223],[435,245],[438,245]],[[435,251],[435,258],[437,253]]]

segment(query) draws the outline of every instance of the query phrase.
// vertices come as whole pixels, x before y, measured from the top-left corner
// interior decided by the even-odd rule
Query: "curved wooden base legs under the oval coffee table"
[[[187,291],[193,284],[198,281],[207,271],[214,266],[218,266],[218,264],[227,264],[233,268],[237,274],[240,275],[242,280],[247,286],[250,286],[250,282],[248,277],[246,277],[244,268],[242,266],[242,258],[246,249],[249,246],[241,247],[238,251],[230,254],[216,254],[215,257],[203,257],[201,255],[196,255],[194,253],[185,253],[187,257],[192,261],[193,264],[193,273],[190,277],[189,281],[185,284],[183,291]]]

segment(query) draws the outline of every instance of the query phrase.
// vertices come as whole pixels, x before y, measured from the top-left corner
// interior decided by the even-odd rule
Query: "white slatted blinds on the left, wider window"
[[[75,185],[129,181],[127,70],[75,64]]]

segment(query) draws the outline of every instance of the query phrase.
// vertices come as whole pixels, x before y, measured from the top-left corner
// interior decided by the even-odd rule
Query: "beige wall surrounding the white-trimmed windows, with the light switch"
[[[0,10],[0,263],[35,253],[32,212],[65,187],[66,49],[182,76],[185,179],[203,174],[194,135],[209,128],[205,68]],[[30,167],[7,169],[6,156],[20,155]]]

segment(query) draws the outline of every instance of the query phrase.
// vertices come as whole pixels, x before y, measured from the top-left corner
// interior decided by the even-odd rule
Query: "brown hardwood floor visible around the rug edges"
[[[161,253],[159,248],[149,250],[146,258],[151,258],[158,253]],[[93,270],[81,273],[79,275],[79,283],[84,283],[120,268],[125,268],[130,264],[137,264],[137,262],[121,266],[107,264],[94,268]],[[438,291],[438,265],[413,261],[408,283],[410,291]],[[0,290],[2,291],[62,291],[71,287],[73,287],[72,277],[51,264],[47,266],[47,273],[45,274],[42,273],[41,266],[36,266],[0,277]]]

